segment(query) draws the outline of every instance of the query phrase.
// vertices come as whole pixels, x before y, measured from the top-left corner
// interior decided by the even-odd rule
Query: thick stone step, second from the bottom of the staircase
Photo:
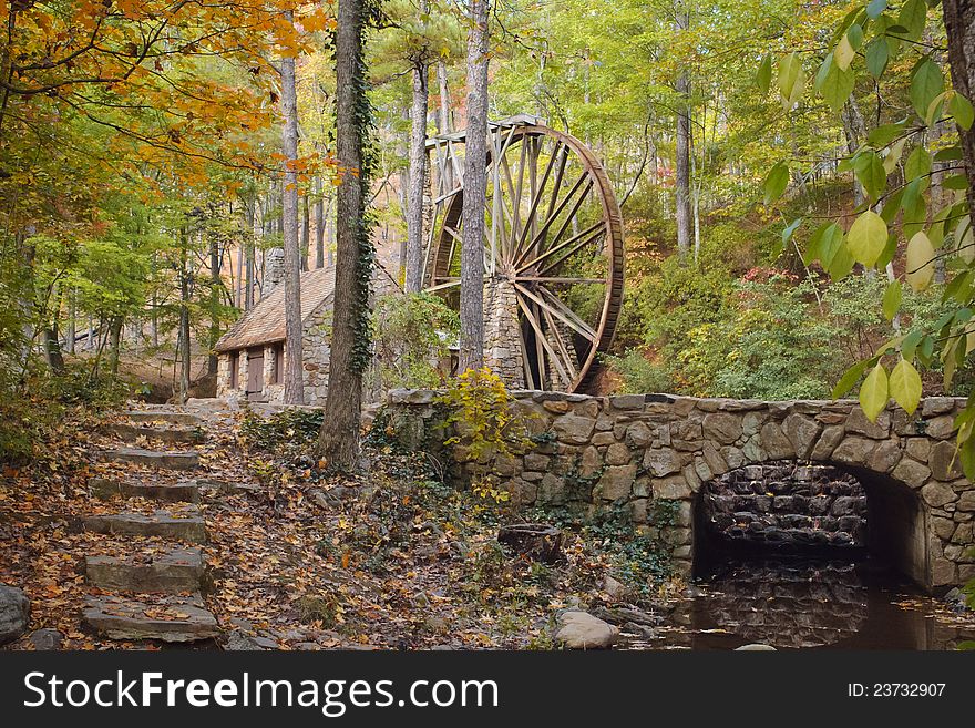
[[[198,592],[203,580],[199,548],[173,548],[158,554],[85,556],[88,581],[115,592]]]

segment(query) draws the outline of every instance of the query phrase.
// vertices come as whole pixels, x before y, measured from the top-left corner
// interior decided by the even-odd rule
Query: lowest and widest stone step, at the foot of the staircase
[[[185,643],[211,639],[220,634],[217,621],[199,595],[89,596],[82,618],[110,639]]]

